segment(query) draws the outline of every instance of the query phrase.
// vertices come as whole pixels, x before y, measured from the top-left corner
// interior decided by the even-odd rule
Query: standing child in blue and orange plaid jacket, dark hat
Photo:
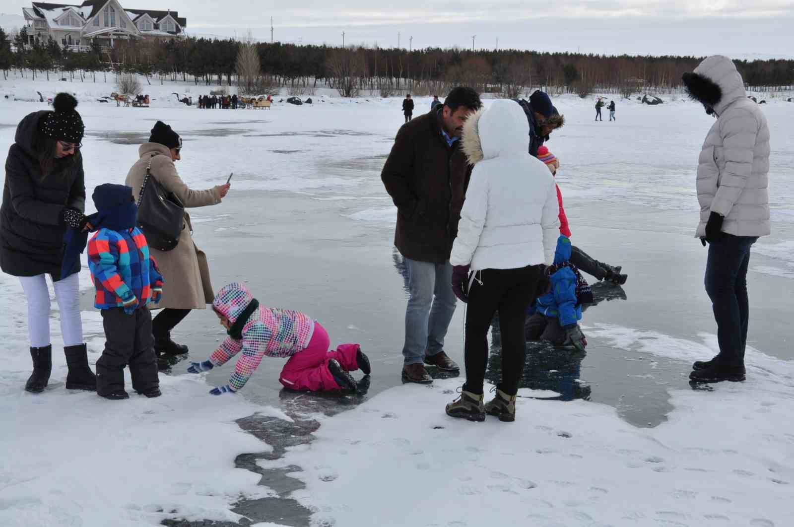
[[[152,315],[147,304],[159,302],[163,277],[149,255],[146,237],[137,228],[133,189],[100,185],[94,190],[98,213],[89,217],[98,229],[88,242],[88,266],[96,287],[94,306],[102,310],[105,351],[97,361],[97,393],[125,399],[124,367],[133,389],[146,397],[160,396]]]

